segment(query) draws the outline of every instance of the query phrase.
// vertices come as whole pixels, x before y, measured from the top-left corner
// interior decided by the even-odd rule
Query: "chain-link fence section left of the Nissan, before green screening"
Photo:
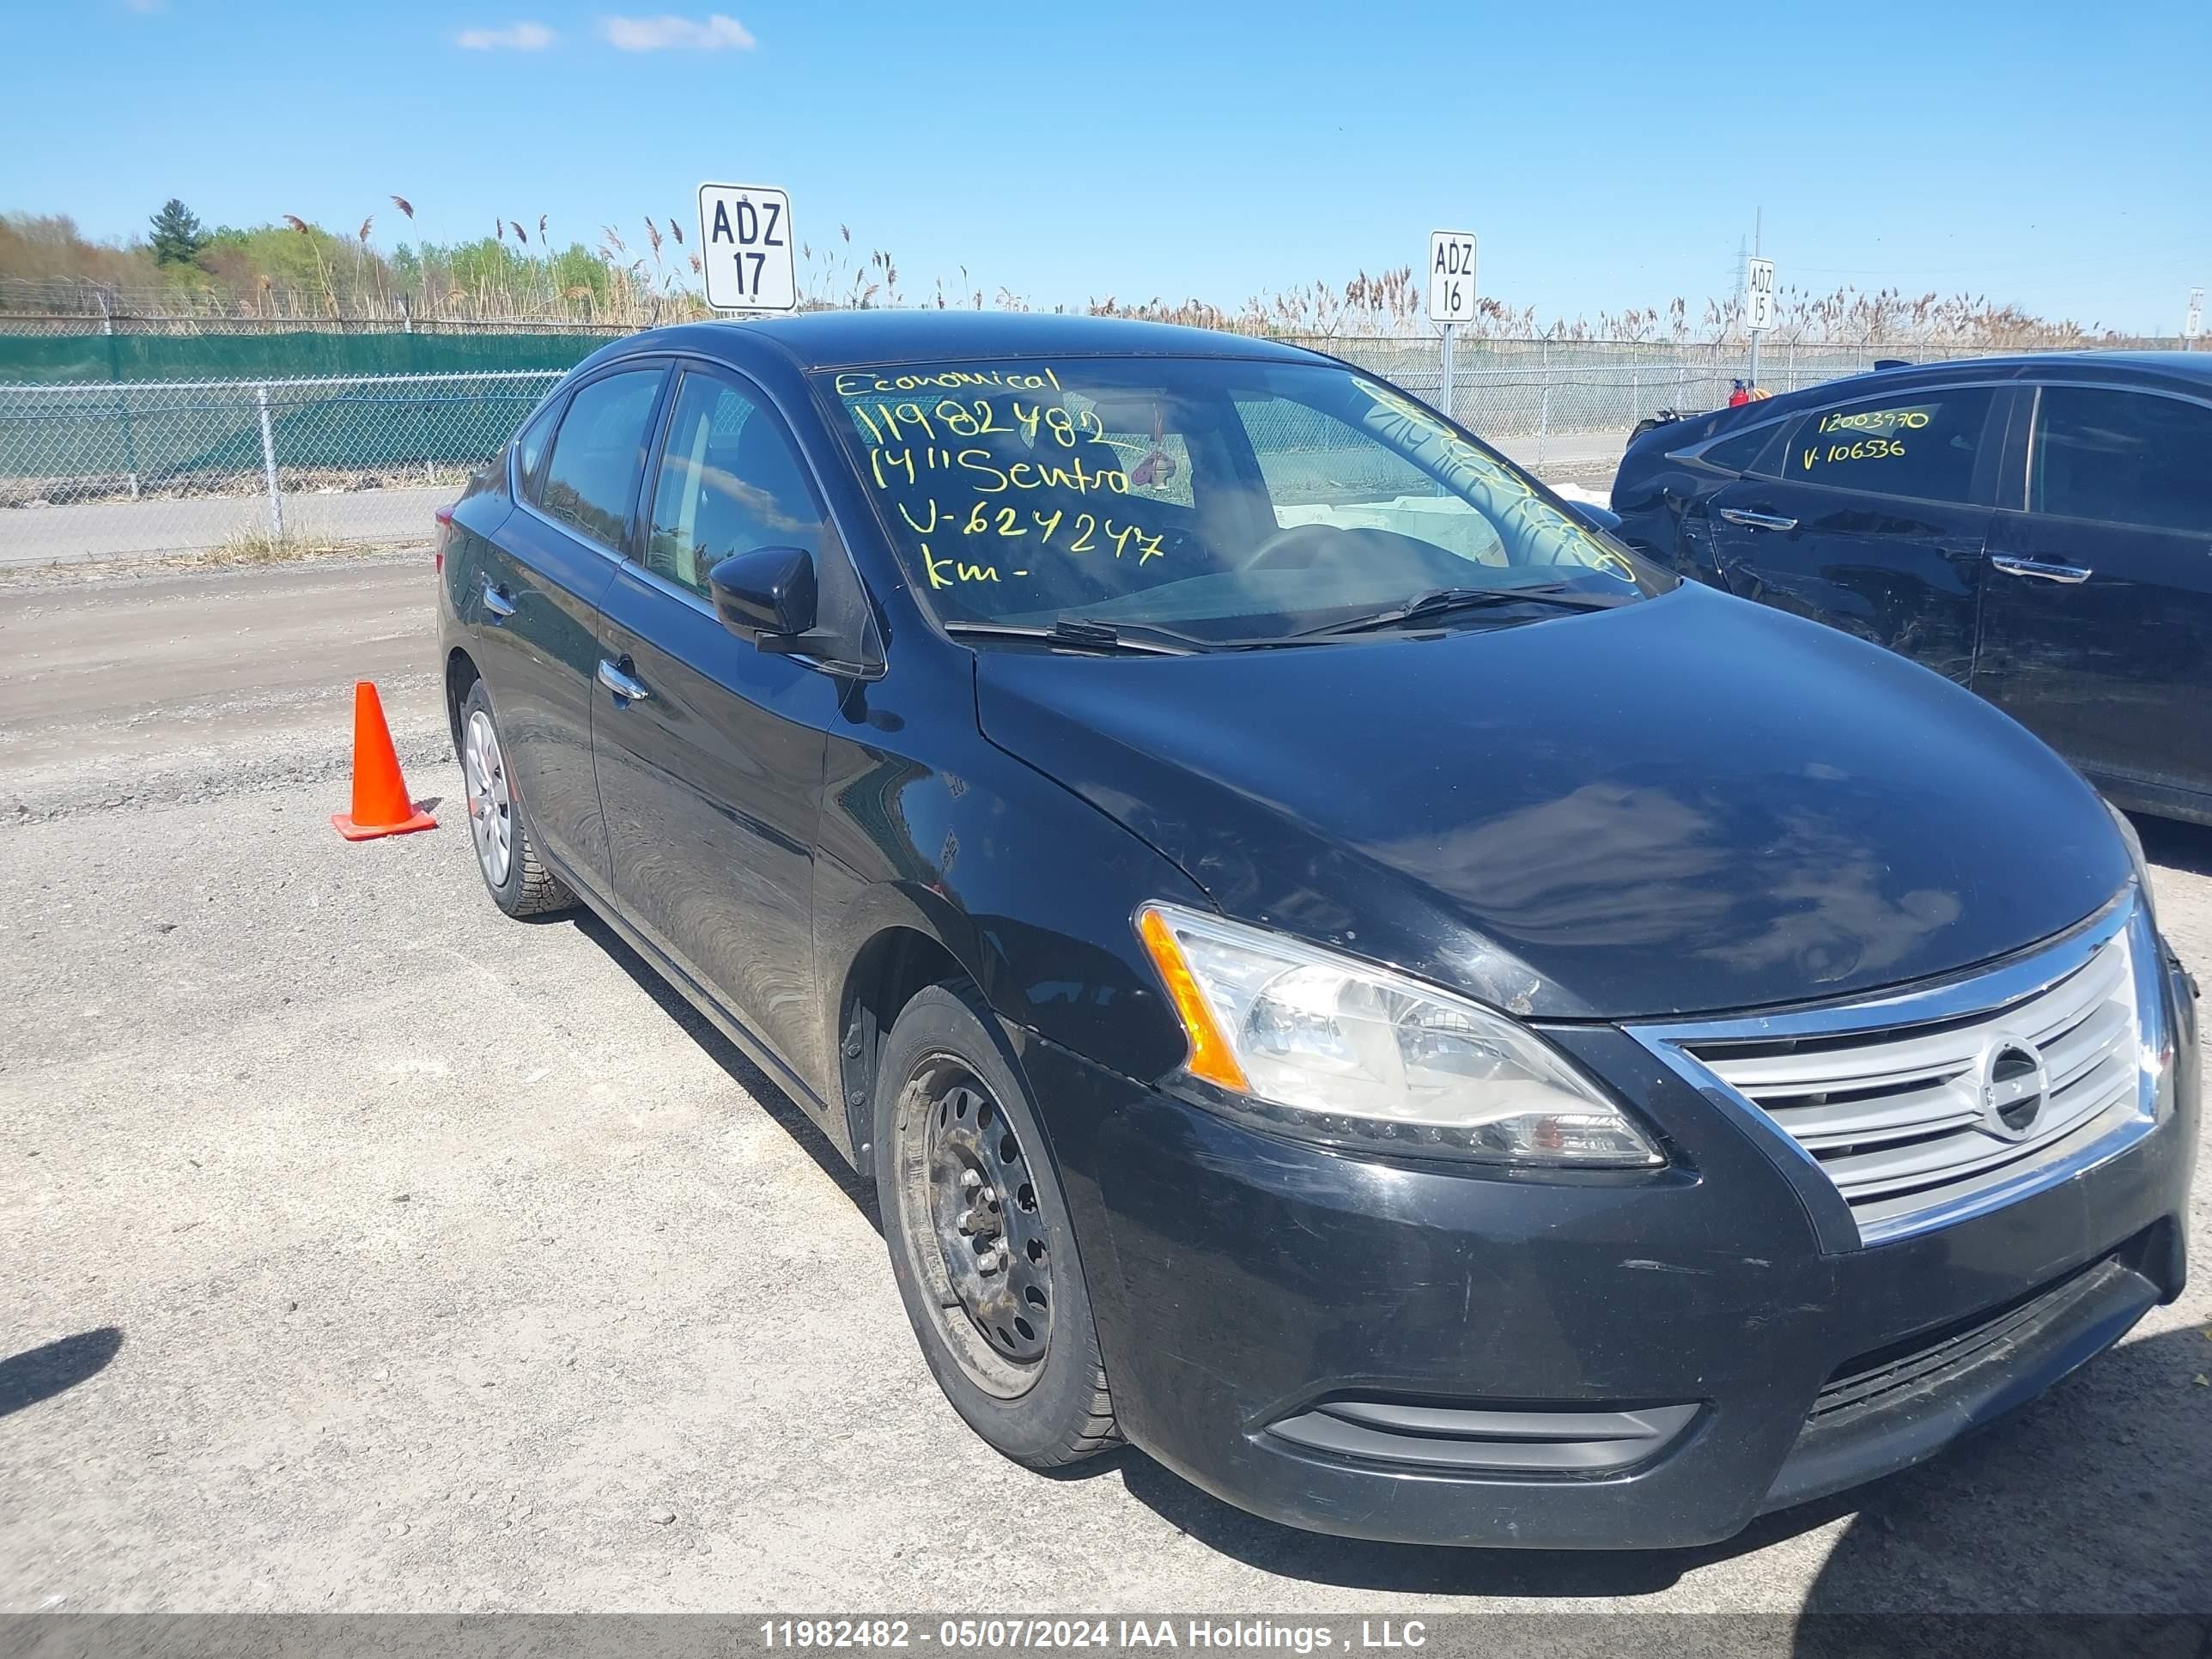
[[[0,385],[0,564],[429,540],[560,374]]]

